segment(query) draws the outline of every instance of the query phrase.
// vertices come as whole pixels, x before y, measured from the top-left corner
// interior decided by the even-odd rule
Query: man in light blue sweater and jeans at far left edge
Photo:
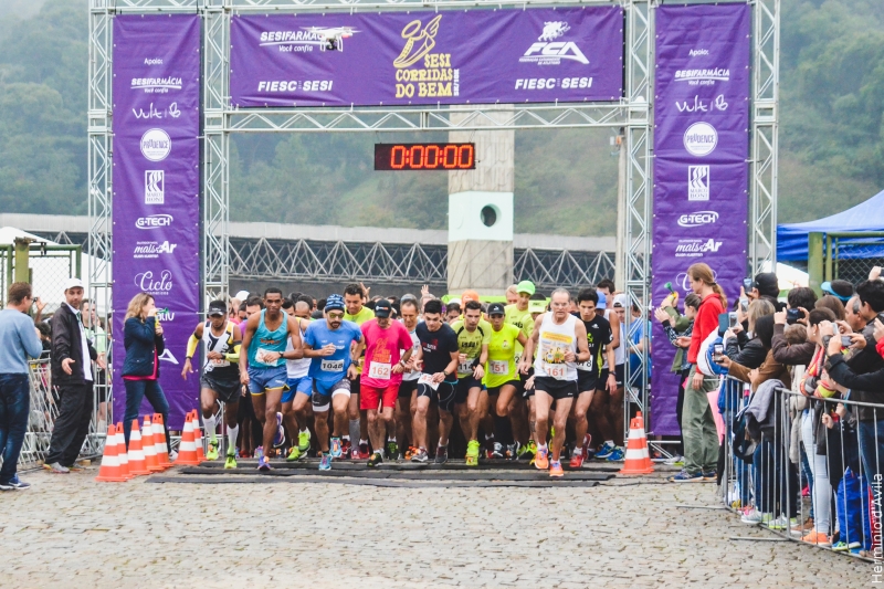
[[[40,332],[25,315],[31,303],[31,285],[15,282],[9,287],[7,308],[0,311],[0,491],[31,486],[15,473],[31,409],[28,358],[39,358],[43,351]]]

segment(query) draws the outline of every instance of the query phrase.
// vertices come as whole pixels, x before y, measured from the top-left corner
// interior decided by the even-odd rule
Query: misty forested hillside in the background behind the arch
[[[85,0],[0,6],[0,212],[86,212]],[[881,0],[782,0],[779,221],[884,189]],[[613,233],[610,132],[516,134],[516,230]],[[236,136],[233,220],[446,227],[445,175],[376,172],[388,134]],[[420,140],[445,139],[421,135]],[[551,204],[555,204],[552,207]]]

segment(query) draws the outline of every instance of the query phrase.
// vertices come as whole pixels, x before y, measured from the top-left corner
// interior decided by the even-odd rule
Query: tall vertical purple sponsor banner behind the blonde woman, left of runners
[[[198,407],[181,378],[200,312],[200,19],[114,19],[114,416],[123,420],[123,319],[133,296],[154,296],[165,329],[160,383],[169,427]],[[141,416],[152,413],[141,404]]]

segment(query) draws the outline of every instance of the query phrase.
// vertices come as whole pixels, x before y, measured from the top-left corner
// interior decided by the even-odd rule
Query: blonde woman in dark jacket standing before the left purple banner
[[[147,398],[154,411],[162,416],[166,446],[169,460],[173,460],[177,453],[172,452],[169,440],[169,402],[159,386],[159,356],[166,351],[166,340],[162,337],[162,325],[157,319],[152,296],[138,293],[129,301],[123,319],[123,337],[126,348],[126,359],[123,361],[123,382],[126,386],[123,432],[126,446],[129,444],[131,422],[138,419],[141,401]]]

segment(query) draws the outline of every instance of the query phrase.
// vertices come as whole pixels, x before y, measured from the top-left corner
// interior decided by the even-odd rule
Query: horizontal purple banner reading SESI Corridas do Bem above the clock
[[[231,103],[617,101],[623,9],[234,15]]]

